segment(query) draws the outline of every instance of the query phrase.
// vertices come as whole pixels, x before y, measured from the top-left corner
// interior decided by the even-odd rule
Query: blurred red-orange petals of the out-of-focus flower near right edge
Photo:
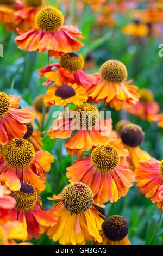
[[[160,108],[156,101],[152,101],[149,103],[139,101],[134,106],[125,106],[124,109],[128,111],[130,114],[136,115],[136,117],[139,117],[141,119],[148,119],[150,115],[158,114]]]

